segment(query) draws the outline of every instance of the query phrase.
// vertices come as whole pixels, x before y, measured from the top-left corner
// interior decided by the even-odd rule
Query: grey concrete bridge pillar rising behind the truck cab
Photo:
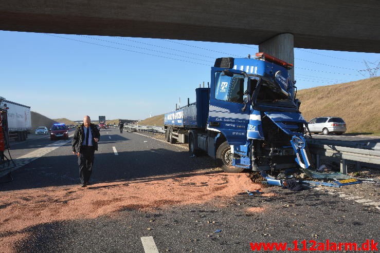
[[[264,52],[275,56],[287,63],[294,64],[294,35],[282,33],[259,44],[259,52]],[[294,81],[294,69],[289,70],[289,74]]]

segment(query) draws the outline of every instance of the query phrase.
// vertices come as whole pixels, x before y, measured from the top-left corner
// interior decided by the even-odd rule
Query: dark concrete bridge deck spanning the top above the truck
[[[380,52],[378,0],[0,0],[0,29]],[[293,75],[292,75],[293,76]]]

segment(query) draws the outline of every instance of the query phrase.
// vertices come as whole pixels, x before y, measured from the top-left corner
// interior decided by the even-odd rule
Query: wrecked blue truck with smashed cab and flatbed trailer
[[[292,67],[265,53],[216,59],[210,87],[165,114],[166,141],[188,142],[190,152],[207,153],[226,172],[309,168]]]

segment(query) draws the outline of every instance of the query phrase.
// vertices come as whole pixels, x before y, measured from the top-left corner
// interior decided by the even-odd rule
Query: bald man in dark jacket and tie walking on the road
[[[95,124],[91,123],[88,115],[84,116],[83,124],[75,129],[73,141],[73,154],[78,157],[79,178],[82,187],[89,185],[89,178],[93,171],[95,150],[98,150],[100,132]]]

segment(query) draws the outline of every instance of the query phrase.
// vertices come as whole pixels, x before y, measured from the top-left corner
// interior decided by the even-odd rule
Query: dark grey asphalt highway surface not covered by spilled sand
[[[198,158],[189,158],[189,153],[183,148],[151,137],[151,134],[142,136],[125,131],[120,134],[118,129],[102,129],[92,181],[117,182],[213,166],[212,159],[199,158],[202,160],[199,163]],[[51,142],[48,138],[30,140],[15,145],[11,154],[13,158],[21,157],[47,145],[58,148],[13,171],[13,181],[0,184],[0,190],[79,185],[77,158],[71,154],[69,141]],[[23,232],[29,232],[31,237],[19,242],[17,250],[252,252],[250,243],[287,242],[285,251],[293,251],[295,243],[298,243],[299,251],[306,251],[302,250],[303,240],[306,240],[306,248],[314,243],[325,243],[326,240],[361,245],[366,240],[378,242],[380,239],[380,209],[376,204],[365,205],[380,201],[379,189],[380,185],[375,183],[339,189],[310,188],[299,192],[269,187],[265,190],[274,193],[270,198],[260,194],[249,196],[242,191],[227,205],[218,205],[216,199],[204,204],[173,205],[169,209],[149,212],[126,208],[113,216],[28,227]],[[186,192],[183,198],[186,198]],[[360,199],[367,201],[355,201]],[[247,213],[247,208],[263,211]],[[158,251],[154,251],[154,247],[151,251],[143,247],[142,238],[150,237]]]

